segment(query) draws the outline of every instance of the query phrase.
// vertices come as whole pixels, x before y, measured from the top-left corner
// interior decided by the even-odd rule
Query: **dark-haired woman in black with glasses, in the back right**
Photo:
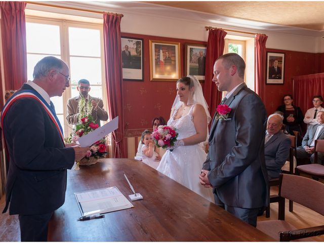
[[[284,113],[284,124],[286,125],[286,130],[291,135],[294,135],[293,131],[301,133],[300,125],[303,122],[304,116],[303,112],[298,106],[293,105],[293,96],[284,95],[284,105],[278,106],[277,110]]]

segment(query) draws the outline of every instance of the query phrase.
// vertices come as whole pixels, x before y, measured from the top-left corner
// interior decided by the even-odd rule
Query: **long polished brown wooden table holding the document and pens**
[[[76,221],[80,212],[73,192],[116,186],[133,194],[123,171],[143,200],[134,208],[105,218]],[[1,199],[1,208],[4,198]],[[0,240],[20,240],[16,216],[0,216]],[[2,222],[4,221],[4,222]],[[19,224],[18,224],[19,225]],[[13,236],[15,233],[17,236]],[[4,232],[6,231],[6,232]],[[8,233],[11,237],[8,238]],[[102,159],[79,171],[68,171],[64,205],[55,211],[49,241],[273,241],[271,237],[210,203],[169,177],[133,159]]]

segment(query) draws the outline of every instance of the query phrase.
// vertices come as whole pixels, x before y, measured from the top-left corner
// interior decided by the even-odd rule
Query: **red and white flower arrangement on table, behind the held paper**
[[[70,137],[64,139],[66,143],[75,143],[83,135],[86,135],[99,128],[99,125],[94,122],[94,119],[91,115],[93,108],[91,100],[86,102],[86,99],[84,97],[81,97],[78,103],[78,108],[78,123],[75,125],[75,129],[73,129],[73,133],[71,133]],[[87,151],[86,156],[83,159],[89,160],[90,157],[94,157],[96,159],[105,157],[105,154],[107,153],[105,143],[105,138],[95,142],[89,147],[89,150]],[[79,164],[80,161],[77,161],[76,170],[78,169]]]

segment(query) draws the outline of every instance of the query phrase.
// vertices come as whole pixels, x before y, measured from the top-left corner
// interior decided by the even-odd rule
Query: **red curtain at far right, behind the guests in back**
[[[324,73],[316,73],[293,77],[294,104],[303,112],[313,107],[313,96],[324,94]]]

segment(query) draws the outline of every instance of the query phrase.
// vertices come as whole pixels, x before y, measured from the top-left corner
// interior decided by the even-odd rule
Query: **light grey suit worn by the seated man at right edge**
[[[309,154],[304,149],[304,146],[310,147],[310,144],[312,143],[316,129],[320,126],[319,124],[308,126],[307,132],[303,138],[302,146],[297,148],[297,158],[310,158],[311,163],[314,163],[314,153]],[[324,129],[318,134],[318,137],[316,139],[324,139]],[[318,153],[318,159],[323,162],[324,160],[324,154]]]

